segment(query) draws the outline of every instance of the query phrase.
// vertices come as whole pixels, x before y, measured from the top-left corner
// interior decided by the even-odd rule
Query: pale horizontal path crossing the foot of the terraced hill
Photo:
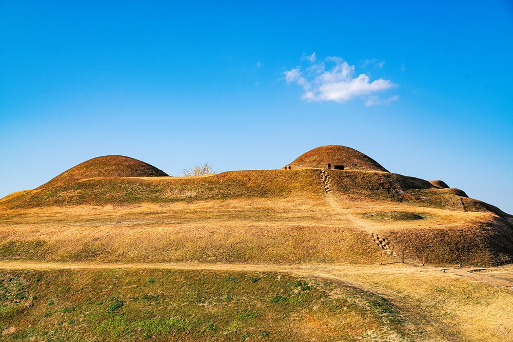
[[[79,269],[181,269],[201,271],[236,271],[236,272],[281,272],[301,276],[313,276],[342,281],[351,286],[359,287],[373,293],[375,289],[357,281],[348,280],[353,274],[386,273],[388,275],[418,275],[440,276],[442,268],[418,267],[406,264],[388,265],[377,267],[376,265],[343,265],[343,264],[300,264],[300,265],[276,265],[276,264],[202,264],[202,263],[155,263],[155,264],[91,264],[91,263],[38,263],[33,261],[0,261],[0,270],[79,270]],[[476,274],[473,271],[480,269],[454,268],[445,269],[446,273],[456,276],[465,276],[482,281],[496,287],[513,287],[513,282],[500,278]]]

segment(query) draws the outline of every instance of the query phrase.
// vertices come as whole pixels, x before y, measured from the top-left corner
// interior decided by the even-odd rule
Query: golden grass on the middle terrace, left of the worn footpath
[[[296,199],[16,210],[2,213],[0,250],[45,260],[299,263],[335,261],[343,249],[348,260],[370,261],[367,234],[346,230],[325,207]],[[6,255],[9,242],[38,242],[42,254]],[[364,250],[351,255],[351,245]]]

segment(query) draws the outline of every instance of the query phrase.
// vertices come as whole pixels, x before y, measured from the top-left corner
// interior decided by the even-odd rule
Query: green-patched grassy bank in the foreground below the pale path
[[[0,300],[4,341],[410,341],[416,333],[383,297],[281,273],[0,271]]]

